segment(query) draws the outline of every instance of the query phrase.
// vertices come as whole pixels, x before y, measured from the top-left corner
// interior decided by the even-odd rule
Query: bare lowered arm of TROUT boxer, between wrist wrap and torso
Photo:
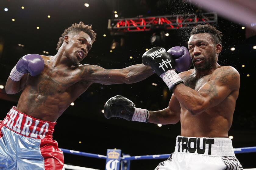
[[[180,103],[172,94],[169,106],[163,110],[150,111],[148,122],[155,124],[176,124],[180,121]]]

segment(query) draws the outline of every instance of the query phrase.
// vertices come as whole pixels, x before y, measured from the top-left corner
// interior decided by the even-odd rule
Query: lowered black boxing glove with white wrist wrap
[[[115,96],[104,105],[106,118],[120,117],[127,121],[148,122],[148,110],[135,107],[133,102],[123,96]]]

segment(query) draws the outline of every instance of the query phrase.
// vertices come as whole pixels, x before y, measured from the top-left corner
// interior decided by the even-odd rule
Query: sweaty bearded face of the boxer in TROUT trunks
[[[196,70],[209,70],[216,65],[218,58],[215,46],[216,44],[208,33],[190,36],[188,49]]]

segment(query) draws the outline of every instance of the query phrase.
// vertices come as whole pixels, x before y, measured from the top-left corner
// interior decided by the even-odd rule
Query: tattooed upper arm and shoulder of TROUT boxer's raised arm
[[[240,75],[233,67],[223,67],[213,73],[210,81],[199,90],[203,97],[203,110],[215,107],[225,100],[234,90],[239,90]]]

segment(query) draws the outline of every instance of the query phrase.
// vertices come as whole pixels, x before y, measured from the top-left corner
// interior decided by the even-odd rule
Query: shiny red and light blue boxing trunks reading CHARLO
[[[0,169],[61,170],[63,152],[52,140],[55,124],[12,107],[0,121]]]

